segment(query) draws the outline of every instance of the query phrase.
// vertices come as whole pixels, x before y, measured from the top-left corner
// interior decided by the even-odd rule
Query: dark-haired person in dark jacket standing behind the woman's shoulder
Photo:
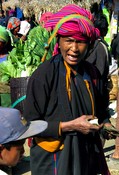
[[[86,56],[86,61],[96,66],[100,74],[100,81],[98,88],[102,94],[105,106],[109,105],[109,91],[108,80],[109,80],[109,65],[111,64],[111,53],[108,49],[108,44],[104,40],[104,37],[108,31],[108,22],[104,14],[99,13],[95,16],[94,26],[99,29],[100,37],[95,40],[94,44],[90,46],[89,52]],[[105,135],[101,134],[102,143],[104,146]]]

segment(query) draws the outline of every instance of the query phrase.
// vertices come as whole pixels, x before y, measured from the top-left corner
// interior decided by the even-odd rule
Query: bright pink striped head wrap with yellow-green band
[[[86,9],[74,4],[67,5],[53,14],[46,22],[45,28],[52,31],[48,46],[56,35],[71,36],[77,40],[92,42],[100,36],[100,32],[93,25],[94,17]],[[58,53],[58,43],[53,55]],[[45,59],[45,54],[42,60]]]

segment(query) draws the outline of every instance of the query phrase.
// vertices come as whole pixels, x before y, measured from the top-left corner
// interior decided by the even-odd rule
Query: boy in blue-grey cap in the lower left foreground
[[[25,139],[38,135],[47,128],[47,122],[34,121],[27,123],[20,111],[0,107],[0,174],[6,166],[15,166],[24,153]]]

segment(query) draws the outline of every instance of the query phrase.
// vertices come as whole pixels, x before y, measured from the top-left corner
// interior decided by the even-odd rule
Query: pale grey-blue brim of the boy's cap
[[[31,121],[28,129],[16,140],[26,139],[43,132],[48,126],[46,121]]]

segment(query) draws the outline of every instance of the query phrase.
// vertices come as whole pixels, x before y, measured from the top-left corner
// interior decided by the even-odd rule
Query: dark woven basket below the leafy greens
[[[24,111],[24,102],[29,77],[11,78],[10,92],[12,107]]]

